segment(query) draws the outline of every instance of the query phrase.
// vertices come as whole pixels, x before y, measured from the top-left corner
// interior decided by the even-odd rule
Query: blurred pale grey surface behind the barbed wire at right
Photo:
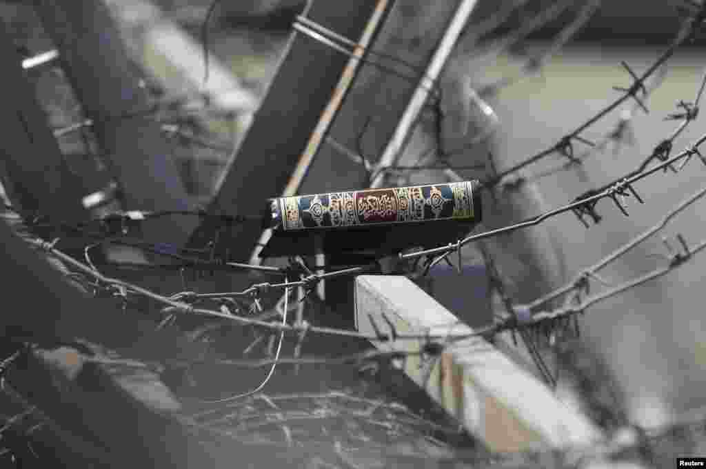
[[[509,165],[523,155],[551,146],[563,133],[609,102],[615,96],[612,85],[628,83],[621,60],[627,60],[640,73],[659,52],[606,47],[568,49],[544,71],[546,79],[532,78],[506,90],[496,107],[503,122],[501,158]],[[693,99],[705,59],[703,52],[677,54],[666,83],[650,100],[651,113],[638,114],[635,119],[635,146],[622,153],[608,151],[587,162],[587,181],[575,172],[544,179],[540,187],[549,205],[563,205],[587,189],[611,182],[649,155],[674,128],[673,122],[662,121],[666,114],[674,112],[674,102]],[[619,115],[611,114],[604,124],[589,129],[585,137],[599,138]],[[705,129],[703,119],[678,138],[675,150],[682,150],[700,136]],[[557,161],[558,157],[547,160],[548,164]],[[628,199],[630,218],[621,215],[610,201],[602,201],[597,209],[604,221],[590,230],[571,213],[552,220],[550,223],[561,233],[570,275],[654,225],[667,210],[704,184],[704,168],[694,161],[681,174],[660,172],[638,184],[636,189],[646,203],[640,206]],[[663,234],[674,237],[681,232],[688,242],[699,242],[706,237],[704,210],[703,203],[696,204]],[[664,259],[654,254],[664,252],[658,235],[606,270],[605,277],[620,283],[662,266]],[[593,307],[582,321],[587,326],[586,335],[609,357],[626,386],[636,418],[650,422],[659,417],[658,403],[662,401],[676,410],[706,403],[706,344],[702,340],[706,326],[700,308],[700,278],[705,262],[706,259],[696,258],[663,280]]]

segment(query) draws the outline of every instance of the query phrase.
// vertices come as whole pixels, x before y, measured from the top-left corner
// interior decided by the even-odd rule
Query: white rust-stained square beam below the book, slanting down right
[[[390,333],[390,325],[398,334],[472,332],[401,275],[360,275],[355,305],[361,333],[375,334],[376,328]],[[587,449],[604,442],[587,417],[482,338],[456,342],[437,357],[419,355],[424,345],[398,340],[376,346],[410,352],[402,364],[405,373],[491,451]]]

